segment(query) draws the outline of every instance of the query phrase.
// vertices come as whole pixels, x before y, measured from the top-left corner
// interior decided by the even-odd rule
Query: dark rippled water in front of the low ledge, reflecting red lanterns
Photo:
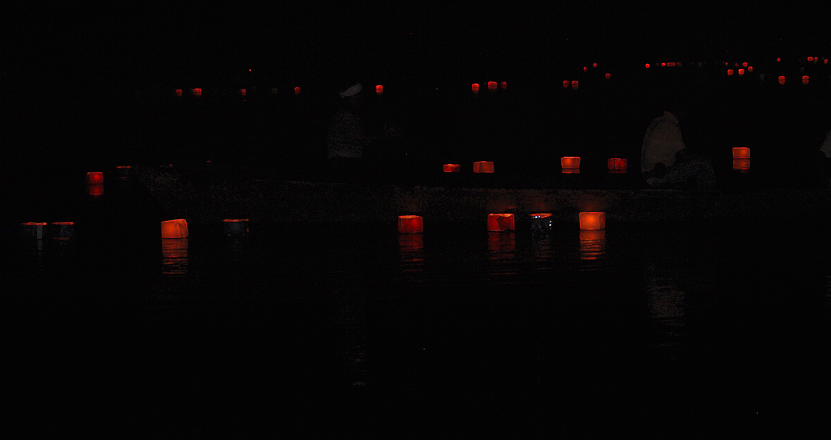
[[[7,387],[33,431],[700,438],[827,419],[819,227],[391,219],[163,240],[167,213],[129,179],[72,206],[75,238],[4,243]]]

